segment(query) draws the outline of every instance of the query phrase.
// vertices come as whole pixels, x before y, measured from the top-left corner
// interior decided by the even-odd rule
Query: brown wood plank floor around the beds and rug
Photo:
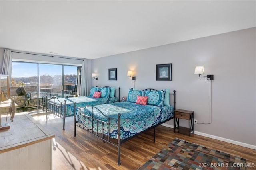
[[[77,128],[74,137],[73,117],[66,118],[66,128],[62,131],[62,119],[54,115],[33,116],[44,127],[55,134],[53,146],[53,170],[136,170],[152,156],[163,149],[174,138],[197,143],[205,147],[241,156],[247,163],[254,163],[256,169],[256,150],[231,143],[210,139],[200,135],[191,137],[174,133],[173,129],[156,128],[156,142],[152,142],[153,131],[135,137],[121,145],[121,165],[117,165],[117,148]]]

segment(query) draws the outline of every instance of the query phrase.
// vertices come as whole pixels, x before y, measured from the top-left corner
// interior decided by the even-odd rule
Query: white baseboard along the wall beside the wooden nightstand
[[[169,124],[166,124],[166,123],[163,123],[162,125],[166,126],[166,127],[173,128],[173,125],[169,125]],[[194,134],[201,135],[201,136],[204,136],[204,137],[209,137],[209,138],[212,138],[212,139],[217,139],[219,141],[228,142],[228,143],[232,143],[232,144],[235,144],[235,145],[239,145],[239,146],[242,146],[242,147],[247,147],[247,148],[256,150],[255,145],[250,145],[248,143],[242,143],[242,142],[238,142],[238,141],[234,141],[234,140],[231,140],[231,139],[226,139],[226,138],[223,138],[223,137],[218,137],[218,136],[214,136],[214,135],[210,135],[210,134],[202,133],[202,132],[198,132],[198,131],[194,131]]]

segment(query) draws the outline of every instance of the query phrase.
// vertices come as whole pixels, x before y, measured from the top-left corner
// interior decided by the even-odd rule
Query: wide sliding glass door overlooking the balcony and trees
[[[49,99],[76,95],[78,69],[78,66],[13,61],[10,96],[18,104],[18,110],[42,112],[46,96]],[[20,87],[24,87],[26,94]]]

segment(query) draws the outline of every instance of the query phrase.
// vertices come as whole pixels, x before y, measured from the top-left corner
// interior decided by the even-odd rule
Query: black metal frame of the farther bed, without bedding
[[[104,87],[109,87],[109,86],[104,86]],[[120,87],[118,89],[115,89],[115,96],[116,96],[116,91],[118,91],[118,102],[120,102]],[[50,100],[54,99],[54,104],[50,103]],[[48,100],[47,96],[46,96],[46,119],[47,119],[47,110],[50,113],[53,113],[54,115],[58,116],[58,117],[62,117],[61,113],[62,113],[62,106],[64,106],[64,110],[63,110],[63,128],[62,130],[65,130],[65,119],[66,119],[66,102],[67,100],[65,99],[64,102],[60,102],[60,104],[56,104],[55,100],[58,100],[58,102],[60,102],[60,100],[58,99],[58,97],[53,96],[52,98],[50,98]],[[76,108],[74,107],[74,113],[76,112]]]

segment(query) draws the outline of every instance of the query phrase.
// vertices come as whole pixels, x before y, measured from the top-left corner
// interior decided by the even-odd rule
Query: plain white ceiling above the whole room
[[[256,27],[255,0],[0,0],[0,47],[95,59]]]

